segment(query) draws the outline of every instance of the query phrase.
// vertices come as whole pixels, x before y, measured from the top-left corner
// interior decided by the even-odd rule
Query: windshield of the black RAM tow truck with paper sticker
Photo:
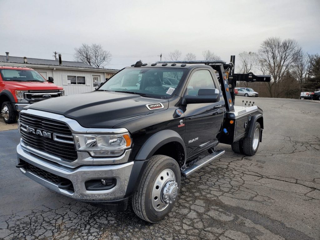
[[[125,68],[112,76],[98,91],[128,92],[168,99],[173,96],[186,69]]]

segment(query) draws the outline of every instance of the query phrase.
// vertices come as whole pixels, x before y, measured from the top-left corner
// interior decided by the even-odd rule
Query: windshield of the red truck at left
[[[45,82],[43,76],[35,70],[1,69],[0,73],[4,81]]]

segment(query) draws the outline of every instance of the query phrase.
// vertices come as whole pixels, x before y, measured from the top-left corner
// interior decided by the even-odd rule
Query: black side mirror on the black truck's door
[[[216,88],[201,88],[198,95],[187,95],[182,100],[182,104],[193,103],[214,103],[220,101],[220,92]]]

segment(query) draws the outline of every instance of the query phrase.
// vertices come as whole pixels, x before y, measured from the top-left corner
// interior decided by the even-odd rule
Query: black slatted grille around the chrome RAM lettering
[[[77,159],[74,142],[55,141],[52,137],[52,134],[56,133],[68,136],[65,140],[72,139],[72,133],[67,124],[39,116],[21,113],[20,125],[22,127],[28,126],[51,133],[51,138],[47,138],[21,129],[22,141],[25,145],[50,153],[54,156],[58,156],[69,163]]]

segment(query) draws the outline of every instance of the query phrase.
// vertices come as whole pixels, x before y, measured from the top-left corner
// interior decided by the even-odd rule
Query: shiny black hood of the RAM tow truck
[[[149,110],[146,104],[164,108]],[[112,128],[133,118],[168,108],[169,101],[121,92],[87,92],[33,103],[27,108],[64,115],[87,128]]]

